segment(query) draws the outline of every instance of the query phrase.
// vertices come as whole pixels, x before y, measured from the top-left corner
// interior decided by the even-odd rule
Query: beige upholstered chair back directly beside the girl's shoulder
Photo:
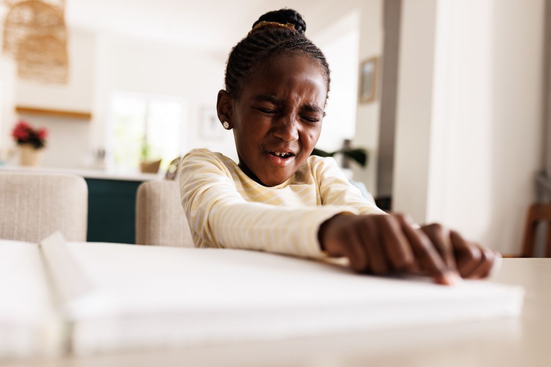
[[[193,247],[178,183],[144,182],[136,194],[136,243]]]

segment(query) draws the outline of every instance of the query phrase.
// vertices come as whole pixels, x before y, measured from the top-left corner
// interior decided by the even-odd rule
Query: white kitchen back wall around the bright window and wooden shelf
[[[120,90],[181,99],[187,113],[182,154],[195,147],[207,147],[236,158],[231,132],[224,131],[222,139],[209,139],[201,136],[199,126],[199,112],[205,107],[215,108],[218,90],[223,87],[223,61],[181,46],[96,35],[79,29],[69,31],[68,52],[67,85],[18,79],[13,62],[2,58],[0,146],[14,145],[9,130],[16,119],[15,105],[91,112],[90,121],[22,116],[34,126],[48,129],[42,165],[89,166],[94,150],[109,147],[109,98],[112,91]]]

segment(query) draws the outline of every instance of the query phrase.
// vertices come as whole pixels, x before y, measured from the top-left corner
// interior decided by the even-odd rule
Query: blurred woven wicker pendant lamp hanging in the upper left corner
[[[67,84],[69,59],[64,0],[8,1],[4,53],[15,58],[18,75],[42,83]]]

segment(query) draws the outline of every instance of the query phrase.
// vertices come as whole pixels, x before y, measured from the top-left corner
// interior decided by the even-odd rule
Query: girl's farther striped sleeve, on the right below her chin
[[[354,207],[360,214],[385,214],[348,182],[333,158],[316,158],[312,171],[320,185],[322,205]]]

